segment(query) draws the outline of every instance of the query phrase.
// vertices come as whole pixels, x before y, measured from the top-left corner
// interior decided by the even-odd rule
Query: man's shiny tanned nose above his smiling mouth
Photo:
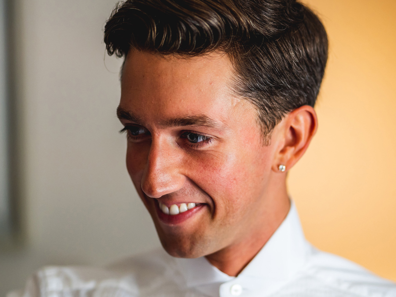
[[[142,177],[142,190],[151,198],[160,198],[180,190],[185,182],[181,173],[181,152],[167,140],[153,140]]]

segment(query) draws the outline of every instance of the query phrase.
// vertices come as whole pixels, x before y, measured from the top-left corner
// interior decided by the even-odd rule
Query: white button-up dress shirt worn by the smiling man
[[[246,268],[231,277],[204,257],[163,250],[106,268],[46,267],[8,297],[396,297],[396,284],[304,238],[292,203],[288,216]]]

